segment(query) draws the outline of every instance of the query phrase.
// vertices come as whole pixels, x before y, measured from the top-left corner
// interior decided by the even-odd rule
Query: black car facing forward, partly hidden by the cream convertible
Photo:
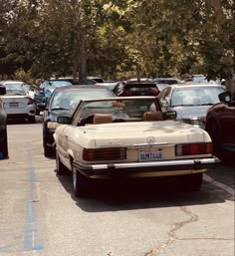
[[[71,117],[82,99],[101,99],[115,97],[107,88],[100,86],[69,86],[57,88],[49,101],[43,116],[43,146],[44,155],[55,154],[53,133],[59,126],[58,116]]]

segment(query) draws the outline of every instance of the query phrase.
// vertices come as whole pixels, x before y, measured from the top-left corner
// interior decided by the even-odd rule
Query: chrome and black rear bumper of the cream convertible
[[[131,163],[84,164],[74,162],[74,167],[87,176],[95,175],[150,175],[170,176],[205,172],[220,163],[216,156],[201,159],[167,160]]]

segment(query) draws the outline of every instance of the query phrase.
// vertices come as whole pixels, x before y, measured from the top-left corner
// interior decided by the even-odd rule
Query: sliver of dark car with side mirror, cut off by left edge
[[[6,88],[0,85],[0,159],[8,157],[7,114],[3,108],[1,96],[6,94]]]

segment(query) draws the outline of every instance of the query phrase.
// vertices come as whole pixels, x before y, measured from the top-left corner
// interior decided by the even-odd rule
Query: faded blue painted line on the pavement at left
[[[44,249],[39,234],[39,223],[37,221],[37,209],[35,199],[37,199],[36,176],[32,162],[31,148],[28,145],[28,175],[30,180],[30,189],[27,201],[27,217],[24,235],[24,250],[41,251]],[[36,203],[37,205],[37,203]]]

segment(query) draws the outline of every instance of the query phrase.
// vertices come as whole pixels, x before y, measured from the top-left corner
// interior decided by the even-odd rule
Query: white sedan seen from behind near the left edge
[[[24,87],[3,83],[6,88],[6,95],[2,96],[4,109],[7,113],[7,119],[28,120],[35,122],[36,106]]]

